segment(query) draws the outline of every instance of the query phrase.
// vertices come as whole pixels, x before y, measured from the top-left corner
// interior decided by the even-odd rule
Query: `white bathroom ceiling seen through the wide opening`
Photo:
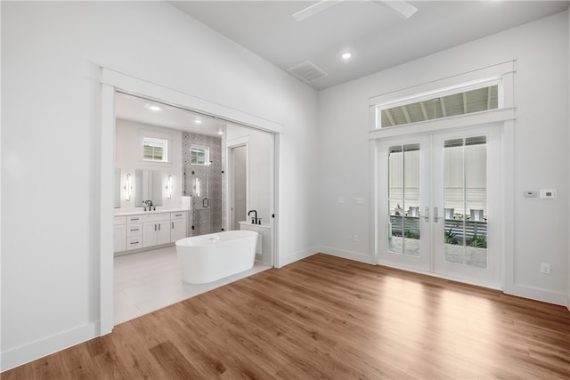
[[[157,106],[160,110],[150,109]],[[127,93],[117,93],[115,116],[149,125],[159,125],[185,132],[218,136],[224,129],[225,121],[208,117],[187,109],[170,106],[158,101],[149,101]],[[200,123],[197,124],[196,120]]]

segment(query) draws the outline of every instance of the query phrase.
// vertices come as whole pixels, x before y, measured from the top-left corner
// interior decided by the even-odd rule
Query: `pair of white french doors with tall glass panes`
[[[501,284],[501,127],[379,141],[379,263]]]

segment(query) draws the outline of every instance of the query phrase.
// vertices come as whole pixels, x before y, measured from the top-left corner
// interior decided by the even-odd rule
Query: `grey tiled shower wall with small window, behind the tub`
[[[198,133],[183,133],[183,194],[191,196],[191,236],[204,235],[224,229],[224,156],[225,138]],[[191,165],[190,147],[201,145],[209,148],[209,166]],[[194,189],[194,179],[202,183],[198,197]],[[208,204],[204,199],[208,198]]]

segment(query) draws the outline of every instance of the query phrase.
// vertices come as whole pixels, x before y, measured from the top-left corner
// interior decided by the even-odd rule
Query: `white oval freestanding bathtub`
[[[258,235],[253,230],[228,230],[177,240],[182,280],[205,284],[253,268]]]

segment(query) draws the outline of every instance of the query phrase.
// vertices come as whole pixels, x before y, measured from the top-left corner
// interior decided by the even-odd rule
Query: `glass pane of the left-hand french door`
[[[388,252],[419,256],[419,144],[388,148]]]

